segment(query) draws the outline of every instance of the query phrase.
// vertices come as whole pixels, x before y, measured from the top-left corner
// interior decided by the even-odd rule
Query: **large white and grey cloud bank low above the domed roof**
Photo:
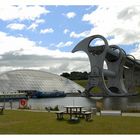
[[[10,36],[0,32],[0,72],[14,69],[46,69],[52,73],[89,70],[87,55],[84,53],[61,52],[38,46],[24,37]],[[70,41],[64,43],[69,46]]]

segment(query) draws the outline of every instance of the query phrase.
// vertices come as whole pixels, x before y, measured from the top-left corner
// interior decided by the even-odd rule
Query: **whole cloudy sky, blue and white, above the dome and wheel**
[[[1,5],[0,11],[0,73],[22,68],[89,71],[86,54],[71,51],[95,34],[140,59],[138,4]]]

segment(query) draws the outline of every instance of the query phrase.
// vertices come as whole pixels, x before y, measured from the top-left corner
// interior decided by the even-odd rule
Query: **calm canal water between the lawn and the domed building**
[[[10,102],[0,102],[6,108],[11,108]],[[128,108],[140,110],[140,95],[129,97],[105,97],[102,99],[86,98],[86,97],[63,97],[63,98],[45,98],[45,99],[29,99],[28,106],[31,109],[45,110],[45,107],[55,107],[63,109],[64,106],[78,105],[85,109],[96,107],[97,109],[106,110],[127,110]],[[19,101],[12,101],[12,108],[18,108]]]

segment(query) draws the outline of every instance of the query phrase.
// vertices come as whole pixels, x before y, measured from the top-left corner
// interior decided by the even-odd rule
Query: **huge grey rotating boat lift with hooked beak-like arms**
[[[97,39],[103,45],[91,45],[91,42]],[[109,45],[106,38],[101,35],[83,39],[72,50],[73,53],[76,51],[84,51],[90,61],[91,72],[84,91],[86,96],[91,96],[91,90],[95,87],[101,89],[102,96],[136,94],[136,87],[140,85],[140,61],[134,56],[126,54],[117,45]]]

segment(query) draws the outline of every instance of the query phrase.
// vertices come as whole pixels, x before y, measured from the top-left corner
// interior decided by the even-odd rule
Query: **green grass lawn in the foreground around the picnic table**
[[[51,112],[5,110],[0,134],[140,134],[140,117],[95,116],[90,122],[57,120]]]

